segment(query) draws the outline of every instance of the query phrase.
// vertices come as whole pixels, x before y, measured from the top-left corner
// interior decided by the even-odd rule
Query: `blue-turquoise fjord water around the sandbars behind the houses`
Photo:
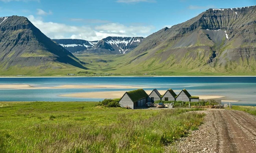
[[[225,96],[222,100],[239,100],[233,105],[256,106],[256,77],[38,77],[0,78],[0,84],[29,84],[34,87],[61,85],[133,85],[145,90],[181,91],[191,95]],[[134,88],[136,89],[136,88]],[[100,98],[74,98],[58,95],[78,92],[127,91],[114,88],[68,89],[0,89],[0,101],[100,101]],[[176,92],[178,94],[179,92]]]

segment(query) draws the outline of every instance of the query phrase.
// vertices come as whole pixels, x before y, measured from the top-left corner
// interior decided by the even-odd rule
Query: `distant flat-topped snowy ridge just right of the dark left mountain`
[[[98,41],[86,41],[81,39],[53,39],[52,41],[60,44],[71,53],[81,52],[82,50],[90,49]]]

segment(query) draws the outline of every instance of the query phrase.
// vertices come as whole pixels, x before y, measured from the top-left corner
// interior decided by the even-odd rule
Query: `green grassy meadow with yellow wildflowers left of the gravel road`
[[[199,109],[128,110],[94,102],[0,102],[0,152],[164,152]]]

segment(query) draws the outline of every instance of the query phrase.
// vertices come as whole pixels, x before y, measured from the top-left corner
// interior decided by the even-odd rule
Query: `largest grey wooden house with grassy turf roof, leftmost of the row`
[[[126,92],[120,99],[121,107],[135,109],[143,107],[147,103],[148,95],[143,89]]]

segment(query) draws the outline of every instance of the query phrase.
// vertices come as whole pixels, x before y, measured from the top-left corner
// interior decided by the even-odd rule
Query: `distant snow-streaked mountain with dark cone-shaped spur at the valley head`
[[[126,54],[137,47],[143,37],[106,37],[95,44],[91,49],[81,53],[97,54]]]

